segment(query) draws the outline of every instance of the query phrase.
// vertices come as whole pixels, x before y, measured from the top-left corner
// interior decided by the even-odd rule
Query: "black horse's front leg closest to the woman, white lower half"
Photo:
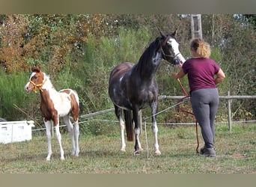
[[[154,136],[154,144],[153,147],[155,149],[155,154],[156,155],[161,155],[161,152],[159,150],[159,144],[158,144],[158,140],[157,140],[157,132],[158,132],[158,127],[157,127],[157,123],[156,123],[156,111],[157,111],[157,102],[153,102],[151,104],[151,111],[152,111],[152,132],[153,132],[153,136]]]

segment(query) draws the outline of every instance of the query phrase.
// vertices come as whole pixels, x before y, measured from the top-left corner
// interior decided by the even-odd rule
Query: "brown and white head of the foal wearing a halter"
[[[27,92],[34,91],[37,92],[37,88],[41,91],[43,84],[45,82],[45,74],[40,70],[40,67],[37,65],[31,67],[31,76],[29,77],[28,83],[25,85],[24,89]]]

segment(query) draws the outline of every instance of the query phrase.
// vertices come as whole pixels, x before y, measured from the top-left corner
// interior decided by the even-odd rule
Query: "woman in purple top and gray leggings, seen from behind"
[[[192,58],[186,60],[179,73],[171,75],[174,79],[183,78],[188,74],[190,101],[195,118],[201,126],[204,147],[200,153],[204,156],[216,156],[214,135],[219,92],[216,85],[225,79],[222,69],[210,57],[210,45],[200,38],[190,42]]]

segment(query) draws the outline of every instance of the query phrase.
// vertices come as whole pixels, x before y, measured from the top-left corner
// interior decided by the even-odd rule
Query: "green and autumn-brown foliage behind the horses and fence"
[[[112,108],[107,92],[110,71],[123,61],[138,61],[148,44],[159,36],[156,27],[166,34],[178,28],[180,52],[185,58],[191,57],[190,15],[0,15],[0,117],[32,118],[37,126],[43,123],[39,93],[23,90],[34,64],[40,64],[50,75],[56,90],[73,88],[79,93],[81,114]],[[212,46],[211,57],[227,77],[218,86],[220,95],[228,91],[231,95],[255,95],[255,15],[203,14],[202,30],[204,40]],[[174,71],[162,61],[157,72],[160,95],[183,95],[178,83],[170,78]],[[187,80],[182,82],[188,90]],[[174,103],[161,101],[159,110]],[[253,119],[255,108],[254,100],[233,100],[232,116],[235,120]],[[223,101],[216,120],[226,118],[227,104]],[[161,123],[191,120],[176,110],[159,116]],[[87,130],[96,133],[95,129]]]

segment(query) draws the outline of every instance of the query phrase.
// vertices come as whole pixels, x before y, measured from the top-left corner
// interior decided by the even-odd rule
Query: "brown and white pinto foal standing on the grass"
[[[61,133],[59,130],[59,117],[63,117],[64,123],[70,132],[72,155],[79,156],[79,96],[76,91],[71,89],[64,89],[56,91],[52,86],[49,76],[40,70],[40,67],[31,68],[32,73],[29,82],[25,85],[25,91],[40,91],[41,105],[40,110],[43,114],[43,122],[46,126],[46,138],[48,144],[48,156],[46,160],[49,161],[52,155],[51,144],[51,127],[54,125],[55,135],[58,139],[58,144],[61,152],[61,160],[64,160],[64,150],[61,145]],[[74,125],[70,121],[70,114],[73,117]]]

